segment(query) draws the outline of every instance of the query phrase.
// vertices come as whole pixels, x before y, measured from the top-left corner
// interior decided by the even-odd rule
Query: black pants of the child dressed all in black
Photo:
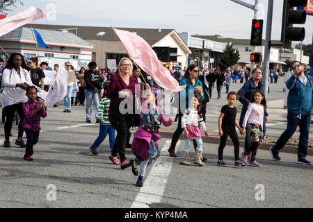
[[[226,146],[227,137],[230,136],[234,144],[235,161],[239,160],[239,138],[236,133],[236,128],[222,128],[223,136],[220,137],[220,146],[218,146],[218,160],[223,160],[223,151]]]

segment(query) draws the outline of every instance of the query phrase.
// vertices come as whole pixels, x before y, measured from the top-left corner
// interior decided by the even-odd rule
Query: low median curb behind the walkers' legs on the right
[[[161,137],[166,137],[166,138],[172,138],[172,132],[159,132],[159,135],[161,135]],[[183,139],[183,136],[181,135],[179,137],[179,139]],[[209,144],[220,144],[220,137],[202,137],[202,142],[204,143],[209,143]],[[245,146],[245,141],[242,139],[239,139],[239,143],[241,147]],[[232,144],[232,140],[231,139],[227,139],[226,145],[229,146],[233,146]],[[259,144],[259,146],[257,147],[258,149],[264,150],[264,151],[268,151],[269,153],[269,148],[273,146],[273,144]],[[298,153],[298,146],[290,146],[290,145],[285,145],[284,148],[280,151],[281,153],[294,153],[297,154]],[[312,148],[308,148],[307,149],[307,155],[313,156],[313,149]]]

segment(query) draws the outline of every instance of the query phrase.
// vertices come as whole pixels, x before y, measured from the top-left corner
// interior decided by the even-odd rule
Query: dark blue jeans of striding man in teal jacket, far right
[[[284,145],[294,135],[297,127],[299,126],[300,137],[298,144],[298,159],[303,159],[307,156],[307,145],[309,142],[311,124],[311,114],[301,115],[299,118],[298,114],[288,112],[287,114],[287,129],[280,135],[278,141],[273,146],[273,151],[280,151],[284,148]]]

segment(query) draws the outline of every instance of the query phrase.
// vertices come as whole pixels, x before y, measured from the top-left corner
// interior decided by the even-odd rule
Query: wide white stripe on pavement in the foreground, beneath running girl
[[[177,142],[179,146],[180,140]],[[152,165],[152,169],[144,178],[143,187],[137,194],[131,208],[149,208],[148,204],[161,203],[161,199],[166,188],[168,176],[172,169],[173,157],[168,155],[168,148],[170,147],[170,140],[166,140],[161,155]]]

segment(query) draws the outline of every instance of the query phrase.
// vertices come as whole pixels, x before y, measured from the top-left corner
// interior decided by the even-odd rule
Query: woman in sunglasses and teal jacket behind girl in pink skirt
[[[179,136],[182,135],[182,133],[184,132],[184,128],[182,128],[182,116],[184,115],[185,110],[188,109],[188,107],[190,106],[189,104],[189,95],[188,92],[189,90],[193,90],[194,94],[200,94],[201,100],[204,100],[204,92],[203,92],[203,87],[202,87],[202,83],[200,80],[198,80],[198,75],[199,75],[199,67],[197,65],[191,64],[188,66],[184,76],[182,77],[182,80],[179,82],[179,85],[186,85],[186,88],[184,90],[182,90],[181,92],[179,92],[179,103],[183,104],[183,100],[186,101],[186,108],[182,109],[180,108],[179,105],[179,109],[178,109],[178,126],[177,129],[175,130],[174,134],[172,135],[172,142],[170,143],[170,148],[168,149],[168,153],[170,153],[171,157],[177,157],[176,153],[175,153],[175,146],[178,142]],[[193,143],[193,146],[197,146],[195,144],[195,142]]]

